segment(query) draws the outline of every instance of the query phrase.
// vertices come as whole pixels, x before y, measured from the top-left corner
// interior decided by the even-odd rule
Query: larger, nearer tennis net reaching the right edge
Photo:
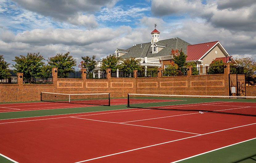
[[[128,94],[128,108],[219,112],[256,116],[256,97]]]

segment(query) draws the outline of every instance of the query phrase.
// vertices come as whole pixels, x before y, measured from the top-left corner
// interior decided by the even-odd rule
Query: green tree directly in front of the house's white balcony
[[[126,58],[122,59],[121,67],[120,69],[125,74],[131,74],[134,70],[141,71],[142,68],[139,65],[139,60],[135,58]]]

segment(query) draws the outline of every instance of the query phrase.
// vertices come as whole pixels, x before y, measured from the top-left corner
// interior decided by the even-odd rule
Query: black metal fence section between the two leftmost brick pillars
[[[23,84],[52,84],[52,76],[36,77],[23,75]]]

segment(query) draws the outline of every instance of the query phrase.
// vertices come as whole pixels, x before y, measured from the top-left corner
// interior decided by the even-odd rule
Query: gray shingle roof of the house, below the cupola
[[[141,44],[137,44],[136,46],[130,47],[126,49],[125,51],[128,52],[125,55],[122,55],[121,58],[130,58],[130,57],[135,57],[135,58],[140,58],[140,57],[159,57],[159,56],[167,56],[171,54],[171,49],[178,49],[180,50],[182,48],[182,51],[184,54],[187,54],[187,46],[191,45],[190,43],[187,43],[186,41],[180,39],[180,38],[174,38],[174,39],[166,39],[166,40],[160,40],[156,42],[156,45],[158,46],[163,46],[161,51],[158,53],[152,54],[152,47],[151,43],[142,43],[142,48]],[[118,49],[119,50],[119,49]],[[124,50],[124,49],[122,49]],[[119,50],[120,51],[120,50]]]

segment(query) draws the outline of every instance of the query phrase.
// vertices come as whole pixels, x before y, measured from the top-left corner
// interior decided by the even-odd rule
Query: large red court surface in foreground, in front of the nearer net
[[[171,163],[256,138],[256,117],[123,109],[0,120],[16,163]]]

